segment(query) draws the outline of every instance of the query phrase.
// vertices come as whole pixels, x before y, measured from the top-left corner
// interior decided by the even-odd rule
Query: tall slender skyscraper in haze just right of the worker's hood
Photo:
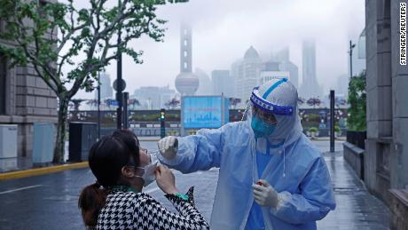
[[[302,86],[299,95],[303,98],[323,95],[316,75],[316,44],[313,40],[305,40],[302,43]]]

